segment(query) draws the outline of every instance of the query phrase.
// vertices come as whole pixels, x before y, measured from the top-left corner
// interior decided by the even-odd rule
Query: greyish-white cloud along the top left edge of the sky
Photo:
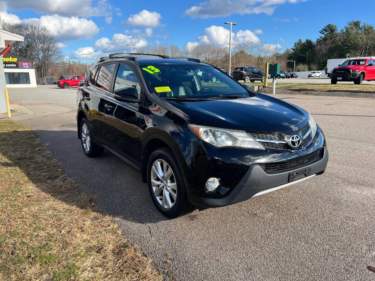
[[[5,0],[6,5],[13,10],[33,10],[36,13],[62,16],[106,16],[111,14],[113,7],[107,0],[99,0],[92,5],[93,0]]]

